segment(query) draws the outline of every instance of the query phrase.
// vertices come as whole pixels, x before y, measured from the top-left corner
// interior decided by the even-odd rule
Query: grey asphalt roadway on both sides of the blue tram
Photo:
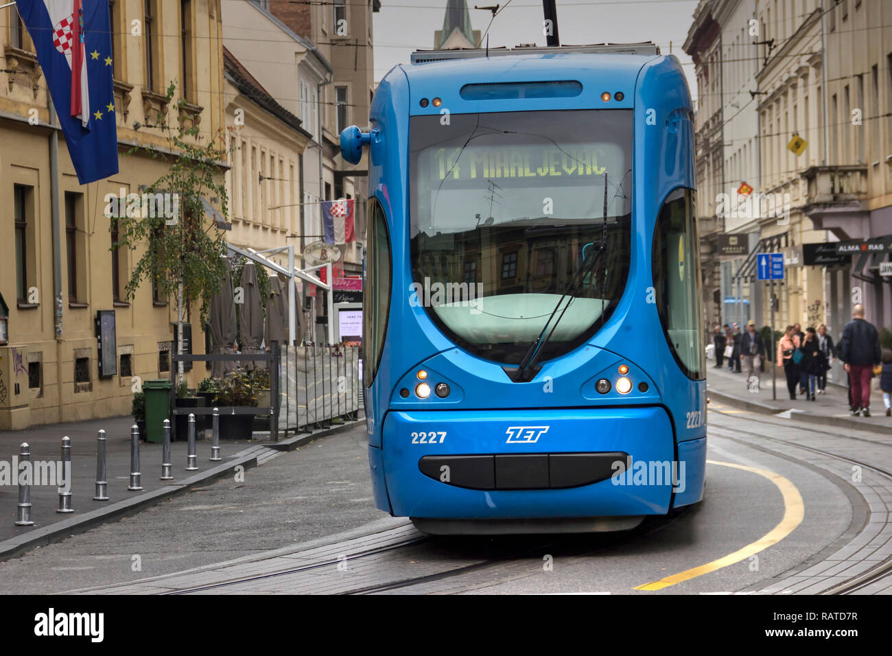
[[[766,437],[797,440],[888,468],[892,447],[882,437],[819,435],[784,419],[710,411],[706,500],[673,519],[651,519],[635,531],[583,536],[431,538],[379,554],[369,571],[313,570],[350,588],[405,579],[415,570],[475,567],[393,593],[698,594],[754,590],[790,569],[804,569],[854,536],[858,494],[844,477],[776,453]],[[767,420],[765,420],[767,419]],[[842,433],[834,429],[837,433]],[[855,434],[853,434],[854,436]],[[855,453],[857,452],[857,453]],[[789,535],[728,567],[657,591],[637,586],[697,568],[758,542],[785,516],[780,487],[751,469],[770,472],[801,495],[804,512]],[[789,500],[788,500],[789,501]],[[863,508],[860,509],[863,512]],[[249,469],[244,484],[221,480],[61,544],[0,563],[0,591],[54,593],[134,581],[300,544],[384,518],[368,482],[364,428],[332,436]],[[377,522],[380,524],[380,522]],[[142,569],[132,571],[134,556]],[[546,564],[549,566],[546,567]],[[334,578],[333,578],[334,580]],[[275,592],[313,590],[307,576],[277,577]],[[335,585],[335,587],[337,586]]]

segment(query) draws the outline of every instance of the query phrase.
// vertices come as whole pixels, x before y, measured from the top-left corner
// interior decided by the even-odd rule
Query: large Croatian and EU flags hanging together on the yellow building
[[[17,0],[82,185],[118,172],[107,0]]]

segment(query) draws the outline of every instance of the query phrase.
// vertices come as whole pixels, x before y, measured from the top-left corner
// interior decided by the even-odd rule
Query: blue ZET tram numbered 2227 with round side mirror
[[[378,87],[363,376],[376,505],[433,534],[700,501],[693,116],[657,46],[416,53]]]

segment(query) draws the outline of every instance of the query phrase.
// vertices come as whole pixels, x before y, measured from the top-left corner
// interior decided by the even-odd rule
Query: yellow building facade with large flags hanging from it
[[[161,177],[160,160],[127,153],[136,143],[165,147],[161,130],[149,126],[166,111],[161,94],[170,80],[185,80],[175,100],[186,104],[180,116],[170,109],[169,120],[191,124],[197,113],[203,136],[225,129],[220,2],[113,0],[111,21],[120,173],[78,185],[59,134],[57,247],[45,79],[15,7],[0,10],[0,294],[10,307],[9,343],[0,345],[0,429],[128,414],[135,383],[169,376],[176,306],[153,297],[151,286],[126,300],[140,252],[111,251],[103,199],[121,189],[139,193]],[[37,125],[29,124],[32,109]],[[114,361],[106,357],[102,367],[111,375],[100,375],[99,311],[115,320]],[[197,319],[193,343],[202,353]],[[194,385],[203,370],[191,376]]]

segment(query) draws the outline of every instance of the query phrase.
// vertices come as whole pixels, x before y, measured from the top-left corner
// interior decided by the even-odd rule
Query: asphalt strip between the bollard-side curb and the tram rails
[[[220,479],[0,562],[0,592],[54,594],[154,577],[386,517],[372,500],[366,444],[364,426],[326,437],[247,469],[244,483]]]

